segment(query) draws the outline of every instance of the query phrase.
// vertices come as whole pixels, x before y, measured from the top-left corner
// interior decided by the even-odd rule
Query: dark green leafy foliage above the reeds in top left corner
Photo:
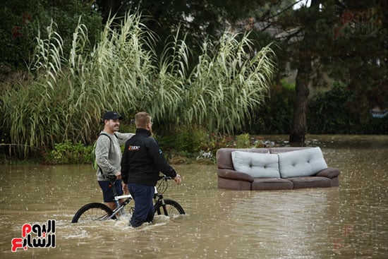
[[[0,8],[0,76],[17,69],[25,69],[35,48],[35,37],[47,37],[51,22],[58,25],[63,49],[71,49],[73,31],[82,15],[93,46],[101,30],[101,17],[91,11],[89,2],[79,0],[10,0]],[[41,36],[39,36],[41,34]]]

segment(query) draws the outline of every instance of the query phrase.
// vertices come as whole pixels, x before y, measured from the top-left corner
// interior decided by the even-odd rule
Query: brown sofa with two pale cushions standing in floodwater
[[[218,188],[286,190],[339,186],[339,169],[327,167],[320,147],[221,148]]]

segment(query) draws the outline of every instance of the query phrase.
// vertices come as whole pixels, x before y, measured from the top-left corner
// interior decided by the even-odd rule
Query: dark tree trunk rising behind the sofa
[[[299,54],[299,67],[295,82],[295,100],[293,102],[293,120],[290,132],[290,145],[305,145],[306,130],[306,107],[307,98],[310,94],[308,84],[310,83],[311,58],[308,54]]]

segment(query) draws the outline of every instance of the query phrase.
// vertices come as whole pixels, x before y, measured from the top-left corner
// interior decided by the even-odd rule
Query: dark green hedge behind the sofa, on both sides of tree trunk
[[[272,86],[265,105],[252,112],[252,120],[245,132],[262,135],[288,135],[293,116],[295,88],[286,83]],[[332,89],[317,94],[308,102],[306,123],[308,134],[388,134],[388,116],[373,118],[365,114],[351,113],[348,107],[352,93],[339,83]]]

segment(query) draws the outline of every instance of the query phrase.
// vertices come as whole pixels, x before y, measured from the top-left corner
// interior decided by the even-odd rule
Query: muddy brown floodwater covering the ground
[[[388,135],[306,139],[341,170],[339,187],[229,191],[217,188],[214,165],[176,165],[183,183],[171,182],[164,196],[187,215],[139,229],[128,227],[129,216],[71,224],[81,205],[102,200],[90,165],[0,165],[0,257],[388,258]],[[23,224],[50,222],[47,247],[11,251],[13,239],[24,240]]]

